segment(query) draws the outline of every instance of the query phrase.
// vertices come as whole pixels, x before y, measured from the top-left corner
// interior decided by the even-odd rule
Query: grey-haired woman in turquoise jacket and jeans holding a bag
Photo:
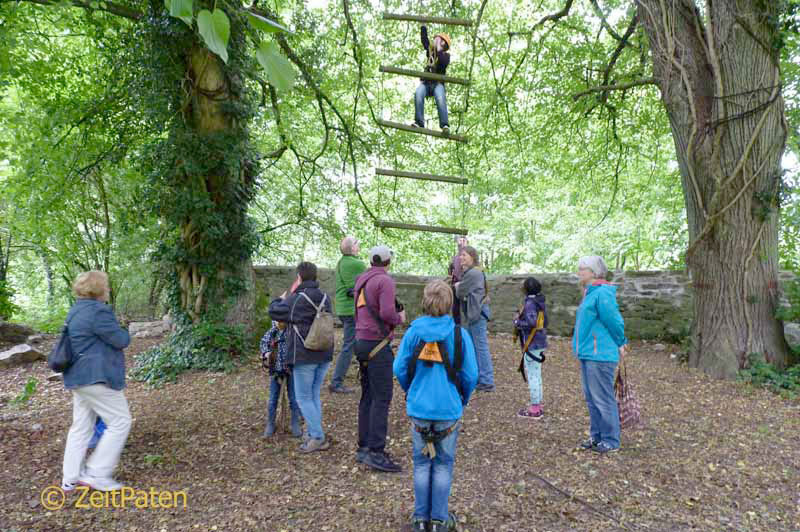
[[[614,375],[625,354],[625,322],[617,305],[617,287],[605,280],[602,257],[583,257],[578,279],[584,289],[575,317],[572,350],[581,363],[581,381],[589,409],[589,439],[583,449],[604,454],[619,449],[619,410]]]

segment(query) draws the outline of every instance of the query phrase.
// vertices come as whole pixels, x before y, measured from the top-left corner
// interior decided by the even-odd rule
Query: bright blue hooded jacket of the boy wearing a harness
[[[458,378],[464,392],[464,402],[455,385],[447,378],[447,370],[442,364],[427,366],[425,362],[417,361],[414,381],[408,382],[408,365],[414,357],[414,349],[420,343],[439,342],[444,340],[445,348],[453,362],[455,356],[455,327],[453,317],[450,315],[422,316],[411,323],[400,348],[394,359],[394,375],[400,386],[406,392],[406,413],[419,419],[434,421],[448,421],[461,417],[463,405],[469,401],[469,396],[478,383],[478,361],[475,358],[475,347],[472,339],[465,329],[461,329],[461,346],[464,362]]]

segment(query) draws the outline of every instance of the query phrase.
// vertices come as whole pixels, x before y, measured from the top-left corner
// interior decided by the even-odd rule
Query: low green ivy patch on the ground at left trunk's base
[[[241,326],[216,321],[185,323],[164,343],[139,354],[131,377],[160,386],[175,382],[178,375],[191,369],[229,372],[244,360],[246,345]]]

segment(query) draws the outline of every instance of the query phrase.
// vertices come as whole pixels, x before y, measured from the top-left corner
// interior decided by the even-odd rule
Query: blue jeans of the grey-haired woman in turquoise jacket
[[[589,408],[589,434],[596,442],[619,448],[619,409],[614,397],[616,362],[581,360],[581,382]]]

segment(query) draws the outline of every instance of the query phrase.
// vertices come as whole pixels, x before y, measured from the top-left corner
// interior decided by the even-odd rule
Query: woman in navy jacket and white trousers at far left
[[[72,392],[72,426],[64,449],[61,487],[71,491],[81,484],[99,491],[118,490],[122,484],[112,474],[131,429],[128,400],[122,391],[122,350],[131,338],[106,304],[110,292],[108,275],[99,271],[82,273],[72,290],[77,300],[67,314],[67,334],[75,359],[64,372],[64,387]],[[81,467],[98,416],[107,428]]]

